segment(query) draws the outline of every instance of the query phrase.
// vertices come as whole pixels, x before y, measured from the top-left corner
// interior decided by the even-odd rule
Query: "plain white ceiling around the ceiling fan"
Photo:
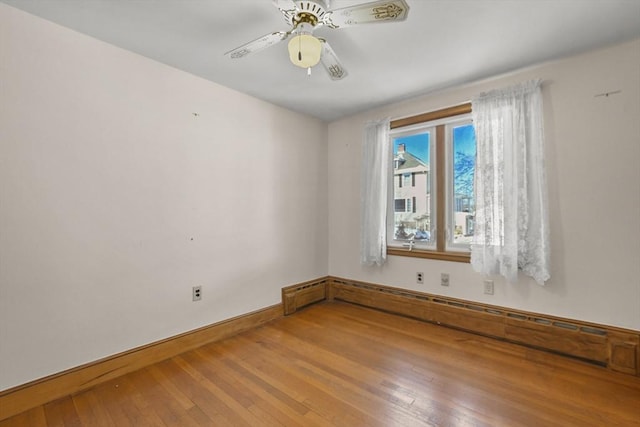
[[[407,0],[404,22],[315,32],[349,72],[332,81],[321,66],[310,77],[293,66],[286,42],[224,56],[289,29],[271,0],[0,1],[327,121],[640,37],[640,0]],[[331,8],[366,1],[333,0]]]

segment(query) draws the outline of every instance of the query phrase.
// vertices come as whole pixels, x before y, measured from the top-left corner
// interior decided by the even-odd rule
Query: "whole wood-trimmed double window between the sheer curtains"
[[[465,104],[391,122],[387,253],[469,261],[476,142]]]

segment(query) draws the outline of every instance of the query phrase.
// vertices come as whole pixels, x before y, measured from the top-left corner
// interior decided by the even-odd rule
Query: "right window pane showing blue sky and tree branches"
[[[476,135],[472,124],[453,128],[453,244],[471,244],[475,215]]]

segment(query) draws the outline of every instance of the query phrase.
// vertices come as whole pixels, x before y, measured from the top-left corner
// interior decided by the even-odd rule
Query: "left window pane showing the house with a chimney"
[[[393,240],[431,243],[430,132],[393,140]]]

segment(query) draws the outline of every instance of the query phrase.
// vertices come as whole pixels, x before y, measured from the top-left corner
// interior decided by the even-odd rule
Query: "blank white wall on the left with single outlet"
[[[0,55],[0,390],[327,274],[325,123],[3,4]]]

